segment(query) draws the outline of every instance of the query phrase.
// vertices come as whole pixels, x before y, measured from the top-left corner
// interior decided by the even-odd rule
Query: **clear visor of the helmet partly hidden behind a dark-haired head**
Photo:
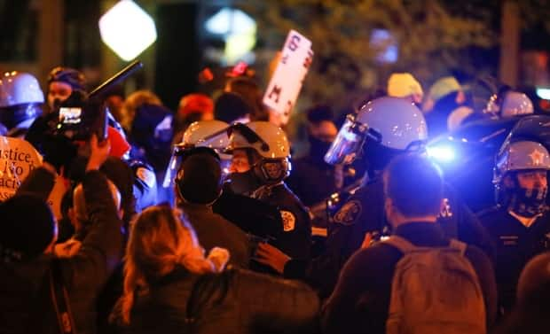
[[[227,136],[227,129],[217,131],[216,133],[201,138],[194,144],[186,144],[185,137],[184,143],[177,144],[172,150],[172,156],[170,158],[168,168],[164,175],[164,181],[162,182],[163,188],[172,189],[174,187],[174,180],[177,176],[177,171],[181,166],[182,159],[185,157],[185,152],[195,147],[208,147],[218,154],[220,157],[220,167],[222,168],[222,178],[229,174],[229,166],[231,165],[232,156],[225,154],[224,151],[229,143],[229,136]]]

